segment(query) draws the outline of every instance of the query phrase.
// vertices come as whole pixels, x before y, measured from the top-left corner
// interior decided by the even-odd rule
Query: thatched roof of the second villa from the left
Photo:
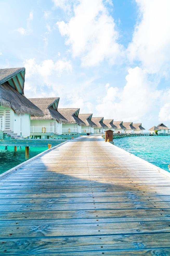
[[[60,100],[59,97],[29,98],[29,100],[38,108],[40,108],[44,113],[43,117],[31,117],[31,120],[56,120],[58,123],[68,123],[68,120],[63,117],[60,112],[58,112],[58,102]]]

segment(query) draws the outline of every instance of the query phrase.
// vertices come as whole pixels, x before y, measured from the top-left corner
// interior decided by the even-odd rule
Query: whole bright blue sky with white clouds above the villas
[[[60,97],[149,129],[170,126],[169,0],[1,0],[1,68],[26,68],[26,97]]]

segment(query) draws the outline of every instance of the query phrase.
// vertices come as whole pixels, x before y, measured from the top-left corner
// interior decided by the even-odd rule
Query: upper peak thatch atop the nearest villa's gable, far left
[[[25,71],[25,68],[1,68],[0,69],[0,84],[6,82],[10,78],[19,74],[20,72]]]

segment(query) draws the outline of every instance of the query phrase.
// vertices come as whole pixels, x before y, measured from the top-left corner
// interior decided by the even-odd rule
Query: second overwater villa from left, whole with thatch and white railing
[[[58,112],[60,98],[30,98],[29,100],[44,113],[43,117],[31,116],[30,135],[52,136],[62,134],[62,124],[68,123],[68,121]]]

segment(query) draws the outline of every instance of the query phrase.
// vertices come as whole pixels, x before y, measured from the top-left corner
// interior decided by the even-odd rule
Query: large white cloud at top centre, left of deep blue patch
[[[83,66],[98,65],[104,59],[115,63],[122,46],[117,43],[114,19],[102,0],[81,0],[74,5],[74,14],[68,23],[57,22],[73,57],[81,57]]]

